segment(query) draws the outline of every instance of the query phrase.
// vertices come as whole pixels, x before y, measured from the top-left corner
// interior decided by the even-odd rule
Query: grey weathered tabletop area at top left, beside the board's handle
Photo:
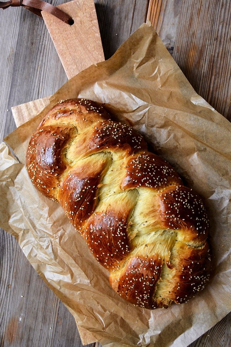
[[[3,138],[15,129],[7,110],[53,94],[67,77],[42,19],[23,8],[1,10],[0,18],[0,133]]]

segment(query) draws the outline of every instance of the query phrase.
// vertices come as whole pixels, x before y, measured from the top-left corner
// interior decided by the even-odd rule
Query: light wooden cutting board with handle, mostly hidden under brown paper
[[[66,75],[70,79],[90,65],[103,61],[103,46],[94,0],[75,0],[57,7],[72,16],[73,25],[69,26],[44,11],[42,11],[42,16]],[[49,96],[12,107],[16,126],[18,127],[36,116],[48,103]],[[76,324],[83,345],[96,342],[89,331],[81,328],[78,323]]]

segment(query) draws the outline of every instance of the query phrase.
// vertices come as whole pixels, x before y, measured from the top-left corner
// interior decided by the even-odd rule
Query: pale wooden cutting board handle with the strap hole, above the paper
[[[66,25],[42,11],[60,60],[70,79],[92,64],[104,60],[94,0],[78,0],[59,6],[72,16],[73,25]]]

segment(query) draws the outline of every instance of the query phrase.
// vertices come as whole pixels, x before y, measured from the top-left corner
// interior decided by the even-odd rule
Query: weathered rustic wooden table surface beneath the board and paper
[[[195,90],[231,120],[230,0],[95,0],[95,5],[105,59],[148,15]],[[0,140],[16,128],[12,106],[51,95],[66,81],[43,20],[23,8],[1,10]],[[82,346],[72,315],[3,230],[0,342],[1,347]],[[231,346],[231,314],[190,345],[202,346]]]

